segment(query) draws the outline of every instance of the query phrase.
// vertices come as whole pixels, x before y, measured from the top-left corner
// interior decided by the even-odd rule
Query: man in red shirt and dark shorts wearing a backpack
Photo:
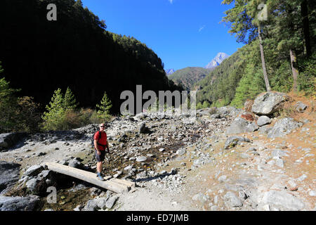
[[[107,133],[105,133],[105,124],[100,124],[100,131],[94,134],[94,148],[96,150],[97,176],[100,181],[104,181],[102,174],[102,163],[105,160],[105,148],[110,153],[109,144],[107,143]]]

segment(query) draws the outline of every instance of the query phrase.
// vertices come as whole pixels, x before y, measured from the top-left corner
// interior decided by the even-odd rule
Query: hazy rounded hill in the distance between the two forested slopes
[[[172,75],[169,75],[169,79],[172,79],[175,84],[180,84],[184,89],[190,91],[194,89],[195,83],[208,75],[210,70],[197,67],[188,67],[181,70],[176,70]]]

